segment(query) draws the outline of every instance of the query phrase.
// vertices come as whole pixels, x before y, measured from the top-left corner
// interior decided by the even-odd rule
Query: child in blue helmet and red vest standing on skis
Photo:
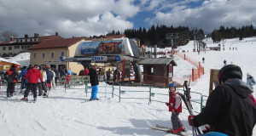
[[[169,84],[169,103],[166,103],[169,107],[169,111],[172,112],[172,130],[171,133],[180,133],[184,131],[183,123],[179,120],[178,114],[182,112],[182,101],[176,91],[176,85],[174,83]]]

